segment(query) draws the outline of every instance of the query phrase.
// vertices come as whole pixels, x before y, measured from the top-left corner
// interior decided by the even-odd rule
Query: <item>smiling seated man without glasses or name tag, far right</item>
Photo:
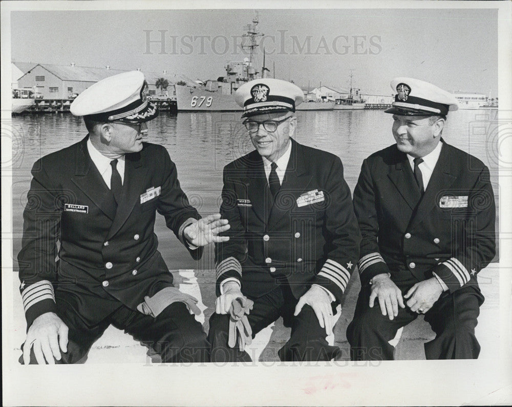
[[[354,190],[362,242],[351,357],[393,359],[389,341],[422,313],[436,334],[426,358],[477,358],[477,274],[495,256],[489,170],[442,139],[457,110],[451,94],[412,78],[391,87],[396,144],[363,162]]]

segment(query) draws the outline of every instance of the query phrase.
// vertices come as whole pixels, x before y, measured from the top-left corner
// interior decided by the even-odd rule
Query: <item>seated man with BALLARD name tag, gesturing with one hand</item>
[[[197,300],[157,250],[155,213],[194,259],[229,225],[201,219],[166,149],[142,141],[158,115],[146,93],[137,71],[93,84],[71,105],[88,135],[34,164],[18,255],[25,364],[83,361],[111,324],[164,362],[209,360]]]

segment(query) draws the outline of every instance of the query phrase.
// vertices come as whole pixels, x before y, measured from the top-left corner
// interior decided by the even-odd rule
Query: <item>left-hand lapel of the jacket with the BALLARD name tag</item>
[[[77,144],[75,174],[71,180],[106,216],[114,219],[114,196],[89,156],[88,139],[89,135]]]

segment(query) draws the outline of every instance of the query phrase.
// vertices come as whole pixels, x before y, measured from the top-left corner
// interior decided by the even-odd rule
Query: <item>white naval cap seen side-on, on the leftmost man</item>
[[[158,116],[157,107],[147,100],[147,83],[140,71],[123,72],[94,83],[76,97],[70,111],[92,120],[132,124]]]

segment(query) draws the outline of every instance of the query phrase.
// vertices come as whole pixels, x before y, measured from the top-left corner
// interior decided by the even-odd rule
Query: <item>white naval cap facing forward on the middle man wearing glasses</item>
[[[242,117],[295,111],[304,100],[301,88],[281,79],[254,79],[240,86],[234,100],[244,108]]]

